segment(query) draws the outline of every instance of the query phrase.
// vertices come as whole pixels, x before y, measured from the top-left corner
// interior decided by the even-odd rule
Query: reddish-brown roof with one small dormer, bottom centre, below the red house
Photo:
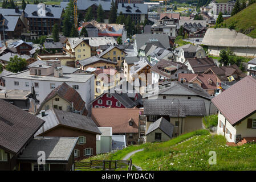
[[[92,119],[98,127],[112,127],[113,133],[138,133],[139,113],[143,109],[92,108]],[[129,120],[133,125],[129,126]]]

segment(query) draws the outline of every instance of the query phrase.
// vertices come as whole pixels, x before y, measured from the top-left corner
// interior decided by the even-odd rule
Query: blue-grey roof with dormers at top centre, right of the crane
[[[117,13],[120,12],[123,14],[147,14],[148,5],[143,3],[119,3]]]

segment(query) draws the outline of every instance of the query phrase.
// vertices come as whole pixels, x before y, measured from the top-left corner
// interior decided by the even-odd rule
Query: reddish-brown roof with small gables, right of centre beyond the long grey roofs
[[[185,78],[188,82],[192,82],[198,79],[202,82],[203,89],[217,89],[217,75],[214,74],[190,74],[190,73],[178,73],[178,81],[181,78]],[[212,80],[212,84],[209,84],[209,80]]]

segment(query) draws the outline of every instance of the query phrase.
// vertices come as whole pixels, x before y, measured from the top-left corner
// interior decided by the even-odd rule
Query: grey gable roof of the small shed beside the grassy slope
[[[172,138],[172,133],[173,133],[173,124],[167,121],[165,118],[161,117],[157,119],[157,121],[151,123],[149,125],[147,134],[151,133],[152,131],[155,131],[156,129],[162,130],[166,135],[168,135],[170,138]]]

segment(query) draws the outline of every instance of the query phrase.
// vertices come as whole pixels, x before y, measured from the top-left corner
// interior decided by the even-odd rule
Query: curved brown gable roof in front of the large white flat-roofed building
[[[74,88],[71,86],[68,86],[66,82],[63,82],[63,84],[59,85],[57,88],[52,90],[46,98],[44,98],[44,101],[40,105],[38,109],[38,113],[40,110],[42,110],[42,107],[48,100],[51,100],[51,98],[55,97],[58,94],[59,97],[62,97],[64,100],[74,103],[74,110],[83,110],[86,102],[83,101],[82,97]],[[38,114],[36,113],[36,114]]]

